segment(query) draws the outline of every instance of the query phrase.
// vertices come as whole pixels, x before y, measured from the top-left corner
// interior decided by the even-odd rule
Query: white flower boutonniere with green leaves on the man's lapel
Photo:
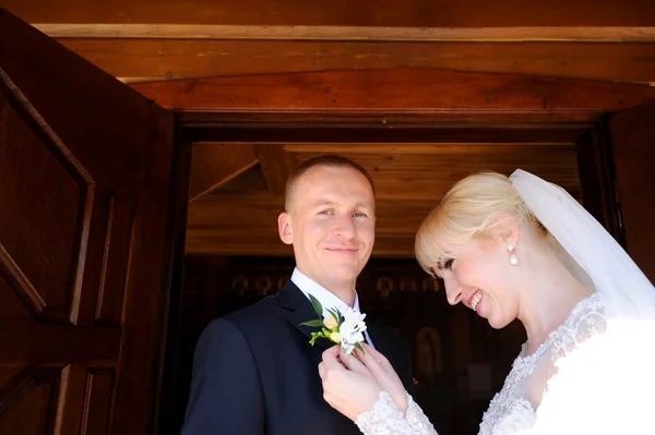
[[[364,353],[361,342],[366,330],[366,323],[364,322],[366,314],[357,313],[350,307],[345,313],[340,312],[337,309],[326,309],[325,313],[318,299],[311,294],[309,294],[309,299],[319,315],[319,319],[305,322],[300,325],[321,328],[319,331],[311,333],[309,343],[313,346],[317,339],[326,338],[340,345],[346,354],[352,353],[355,349],[359,349]]]

